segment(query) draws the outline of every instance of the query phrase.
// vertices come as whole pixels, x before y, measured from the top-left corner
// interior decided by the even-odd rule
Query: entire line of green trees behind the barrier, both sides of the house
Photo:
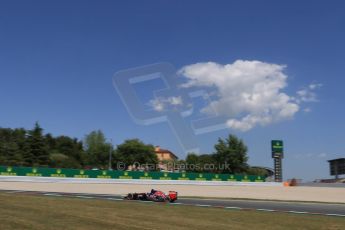
[[[190,153],[185,160],[165,162],[187,172],[255,173],[247,164],[247,147],[234,135],[219,139],[213,154]],[[83,141],[68,136],[44,134],[38,123],[32,130],[0,128],[0,165],[59,168],[127,169],[133,163],[151,165],[158,159],[154,146],[130,139],[113,148],[101,131]]]

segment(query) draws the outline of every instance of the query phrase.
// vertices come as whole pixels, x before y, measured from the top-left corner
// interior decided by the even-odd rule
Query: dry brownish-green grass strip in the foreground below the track
[[[343,229],[345,218],[0,193],[0,229]]]

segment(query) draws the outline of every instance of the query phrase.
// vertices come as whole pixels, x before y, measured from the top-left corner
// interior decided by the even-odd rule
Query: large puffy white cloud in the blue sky
[[[182,87],[216,90],[217,97],[201,112],[224,115],[230,128],[248,131],[257,125],[291,119],[299,111],[293,97],[282,92],[287,86],[285,67],[237,60],[226,65],[214,62],[188,65],[179,73],[187,78]]]

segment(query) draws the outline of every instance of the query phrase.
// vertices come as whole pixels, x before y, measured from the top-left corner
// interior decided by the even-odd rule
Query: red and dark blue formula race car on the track
[[[154,202],[174,202],[177,200],[177,192],[169,191],[165,194],[162,191],[151,189],[149,193],[128,193],[124,197],[125,200],[143,200],[143,201],[154,201]]]

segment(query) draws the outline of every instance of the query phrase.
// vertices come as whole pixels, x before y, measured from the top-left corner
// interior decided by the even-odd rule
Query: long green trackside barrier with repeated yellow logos
[[[265,177],[240,174],[138,172],[65,168],[0,166],[1,176],[73,177],[99,179],[197,180],[264,182]]]

